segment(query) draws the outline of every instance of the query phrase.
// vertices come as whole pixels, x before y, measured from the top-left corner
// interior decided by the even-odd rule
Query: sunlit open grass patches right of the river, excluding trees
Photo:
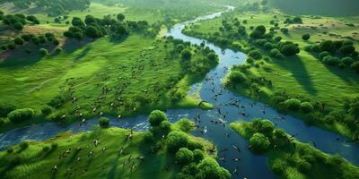
[[[274,15],[277,18],[273,18]],[[236,13],[240,21],[247,20],[248,23],[241,25],[246,26],[247,30],[250,26],[265,25],[267,30],[272,27],[269,21],[276,20],[283,22],[285,20],[283,13]],[[276,35],[281,36],[283,40],[290,40],[298,43],[301,47],[301,53],[293,57],[285,57],[283,59],[272,58],[263,67],[251,68],[250,70],[259,76],[266,77],[273,81],[272,89],[263,89],[267,94],[273,94],[276,91],[286,90],[293,95],[301,95],[305,98],[311,98],[317,101],[328,103],[329,106],[339,106],[343,103],[345,97],[355,97],[359,91],[359,75],[351,70],[340,70],[337,67],[328,67],[322,64],[317,58],[304,51],[303,47],[311,45],[322,39],[344,39],[323,34],[328,31],[332,34],[339,34],[343,37],[350,36],[359,40],[359,36],[353,34],[355,27],[348,27],[345,23],[355,23],[359,17],[335,18],[322,17],[321,19],[312,19],[309,16],[302,18],[303,24],[291,24],[287,26],[289,34],[285,35],[277,32]],[[324,24],[320,28],[320,24]],[[335,26],[332,26],[334,24]],[[191,30],[202,32],[204,34],[214,33],[222,26],[222,18],[211,21],[199,22],[192,26]],[[319,27],[312,30],[310,27]],[[284,27],[280,23],[280,27]],[[324,29],[328,28],[328,29]],[[311,34],[308,42],[302,40],[302,35]],[[245,47],[244,41],[237,41]],[[355,43],[355,47],[359,47],[359,43]]]

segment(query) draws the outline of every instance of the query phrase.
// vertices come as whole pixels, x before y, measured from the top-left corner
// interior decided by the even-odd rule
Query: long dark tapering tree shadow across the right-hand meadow
[[[295,78],[295,80],[302,85],[304,90],[309,92],[311,95],[317,94],[317,90],[314,88],[311,81],[311,76],[309,75],[307,69],[302,63],[302,58],[300,58],[298,55],[288,56],[284,58],[285,59],[274,59],[274,61],[283,69],[292,72],[293,78]]]

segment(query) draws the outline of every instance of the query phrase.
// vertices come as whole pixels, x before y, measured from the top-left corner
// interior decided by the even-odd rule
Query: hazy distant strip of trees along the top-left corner
[[[90,0],[0,0],[0,4],[5,2],[13,3],[21,9],[29,8],[31,4],[48,8],[48,12],[50,12],[48,15],[50,16],[56,16],[73,10],[85,10],[91,4]]]

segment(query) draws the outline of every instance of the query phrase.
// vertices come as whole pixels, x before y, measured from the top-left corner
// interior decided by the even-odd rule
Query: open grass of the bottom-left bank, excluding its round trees
[[[180,125],[173,124],[172,130],[179,130]],[[0,152],[0,174],[2,178],[173,178],[180,172],[180,165],[174,163],[163,144],[145,143],[145,132],[134,132],[132,140],[127,140],[130,133],[120,128],[95,128],[92,132],[64,132],[47,141],[30,141],[26,149],[17,145],[12,153]],[[187,135],[189,141],[212,148],[210,142]],[[98,147],[95,140],[100,141]],[[160,149],[153,153],[156,145]],[[59,158],[67,149],[69,154]],[[88,156],[90,151],[93,157]],[[205,155],[215,158],[215,153]],[[18,163],[12,163],[14,158]],[[52,171],[54,166],[57,172]]]

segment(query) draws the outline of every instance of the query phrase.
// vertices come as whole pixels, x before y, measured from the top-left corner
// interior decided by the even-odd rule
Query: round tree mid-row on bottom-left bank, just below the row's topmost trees
[[[166,139],[167,151],[169,151],[172,154],[176,153],[180,148],[187,147],[187,144],[188,144],[188,137],[183,132],[177,132],[177,131],[170,132]]]

